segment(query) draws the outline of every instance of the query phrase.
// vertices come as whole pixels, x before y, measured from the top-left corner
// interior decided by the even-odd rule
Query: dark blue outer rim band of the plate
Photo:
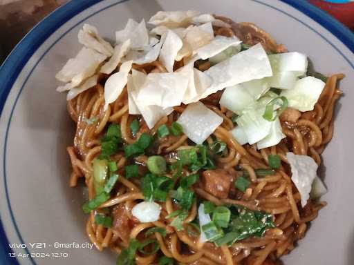
[[[46,41],[50,35],[55,32],[59,27],[64,25],[68,20],[75,17],[80,12],[94,6],[96,3],[100,3],[104,0],[81,0],[81,1],[69,1],[64,6],[58,8],[45,19],[43,19],[35,28],[30,30],[28,34],[22,39],[17,46],[12,50],[10,55],[6,58],[0,67],[0,117],[2,115],[3,106],[6,103],[6,99],[10,90],[17,80],[19,73],[24,68],[28,60],[37,51],[41,43]],[[122,3],[122,0],[117,3]],[[252,0],[259,3],[263,3],[257,0]],[[319,23],[321,26],[329,30],[337,39],[342,41],[344,46],[354,52],[354,34],[348,28],[342,25],[339,21],[331,17],[326,12],[311,5],[307,1],[298,0],[280,0],[283,3],[287,3],[289,6],[303,12],[308,17]],[[264,3],[263,3],[264,4]],[[276,10],[274,6],[266,4]],[[279,10],[281,11],[281,10]],[[307,26],[307,25],[306,25]],[[317,32],[318,33],[318,32]],[[322,36],[323,37],[323,36]],[[343,55],[344,56],[344,55]],[[18,58],[21,58],[20,60]],[[344,56],[345,58],[345,56]],[[348,59],[347,59],[348,61]],[[354,68],[353,64],[348,61]],[[5,165],[4,165],[5,166]],[[21,237],[19,235],[19,237]],[[27,251],[27,250],[26,250]],[[6,236],[6,231],[3,228],[3,224],[0,219],[0,261],[1,264],[19,264],[17,259],[11,259],[8,253],[13,253]],[[28,252],[27,252],[28,253]],[[30,258],[32,264],[35,264],[32,258]]]

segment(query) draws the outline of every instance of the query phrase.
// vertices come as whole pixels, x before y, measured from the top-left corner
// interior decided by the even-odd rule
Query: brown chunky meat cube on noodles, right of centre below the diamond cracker
[[[221,199],[228,197],[233,180],[234,177],[223,169],[205,170],[203,172],[205,190]]]

